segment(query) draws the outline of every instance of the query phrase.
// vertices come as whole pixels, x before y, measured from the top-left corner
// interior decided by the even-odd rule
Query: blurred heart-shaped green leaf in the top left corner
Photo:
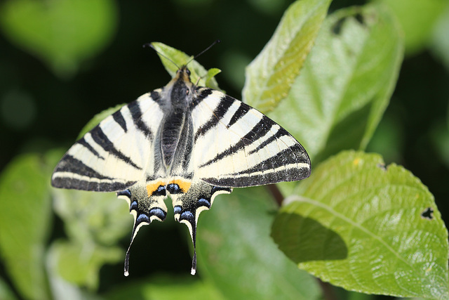
[[[0,9],[5,36],[62,77],[99,53],[111,41],[117,22],[111,0],[9,0]]]

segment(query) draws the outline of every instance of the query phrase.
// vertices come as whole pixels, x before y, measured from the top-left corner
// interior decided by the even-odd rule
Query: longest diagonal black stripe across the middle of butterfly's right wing
[[[234,153],[245,148],[247,145],[250,145],[254,141],[257,141],[257,139],[267,134],[272,129],[272,126],[274,124],[276,123],[274,123],[267,116],[262,115],[262,119],[260,119],[260,121],[257,122],[257,124],[255,124],[255,126],[248,133],[246,133],[243,138],[240,139],[240,141],[230,146],[226,150],[218,153],[213,159],[210,159],[208,162],[201,164],[201,166],[199,167],[206,167],[210,164],[213,164],[214,162],[218,162],[220,159],[227,157],[228,155],[233,155]]]

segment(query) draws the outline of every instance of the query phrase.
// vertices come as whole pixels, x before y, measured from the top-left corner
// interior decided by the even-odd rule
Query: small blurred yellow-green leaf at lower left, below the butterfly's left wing
[[[99,272],[105,263],[116,263],[123,259],[123,250],[119,247],[101,247],[89,240],[82,242],[54,242],[48,253],[51,273],[77,286],[96,289]]]

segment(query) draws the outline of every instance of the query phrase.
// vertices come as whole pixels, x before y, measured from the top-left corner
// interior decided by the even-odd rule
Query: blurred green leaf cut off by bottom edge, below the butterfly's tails
[[[105,295],[105,299],[224,300],[213,285],[191,275],[188,277],[159,275],[146,278],[114,289]]]

